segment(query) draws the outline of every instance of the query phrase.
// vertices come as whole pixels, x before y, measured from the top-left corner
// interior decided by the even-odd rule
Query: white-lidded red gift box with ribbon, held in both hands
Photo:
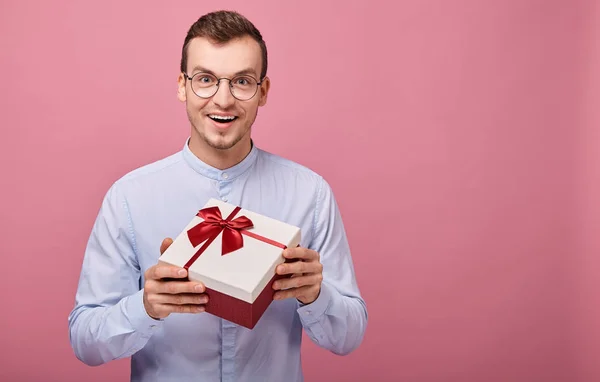
[[[300,228],[210,199],[160,256],[206,287],[206,312],[253,329],[273,301],[275,268]],[[288,276],[289,277],[289,276]]]

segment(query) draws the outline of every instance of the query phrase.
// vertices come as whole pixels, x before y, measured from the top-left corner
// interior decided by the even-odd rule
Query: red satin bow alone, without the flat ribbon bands
[[[196,216],[201,217],[204,221],[190,228],[187,232],[192,245],[196,247],[206,240],[211,239],[210,241],[212,241],[223,231],[222,256],[242,248],[244,239],[240,231],[251,228],[253,223],[246,216],[231,220],[239,210],[240,208],[236,207],[227,219],[223,219],[219,207],[207,207],[200,210]]]

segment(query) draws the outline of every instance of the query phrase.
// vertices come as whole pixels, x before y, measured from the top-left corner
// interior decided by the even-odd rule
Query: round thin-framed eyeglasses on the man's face
[[[183,73],[187,80],[192,82],[192,91],[200,98],[210,98],[217,93],[222,80],[229,81],[229,91],[231,95],[240,101],[248,101],[256,95],[258,87],[262,82],[258,82],[249,75],[235,76],[233,78],[217,78],[212,74],[198,72],[193,76]]]

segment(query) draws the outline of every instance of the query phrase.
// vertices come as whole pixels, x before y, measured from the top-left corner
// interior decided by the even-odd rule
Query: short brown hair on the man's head
[[[206,37],[216,43],[226,43],[238,37],[250,36],[262,51],[262,70],[259,81],[267,75],[267,46],[262,35],[247,18],[234,11],[215,11],[200,17],[188,30],[181,51],[181,72],[186,72],[187,47],[196,37]]]

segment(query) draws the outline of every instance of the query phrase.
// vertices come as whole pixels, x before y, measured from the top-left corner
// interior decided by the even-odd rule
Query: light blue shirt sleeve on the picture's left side
[[[87,242],[68,317],[78,359],[96,366],[142,349],[162,320],[143,304],[141,273],[127,202],[117,184],[107,192]]]

